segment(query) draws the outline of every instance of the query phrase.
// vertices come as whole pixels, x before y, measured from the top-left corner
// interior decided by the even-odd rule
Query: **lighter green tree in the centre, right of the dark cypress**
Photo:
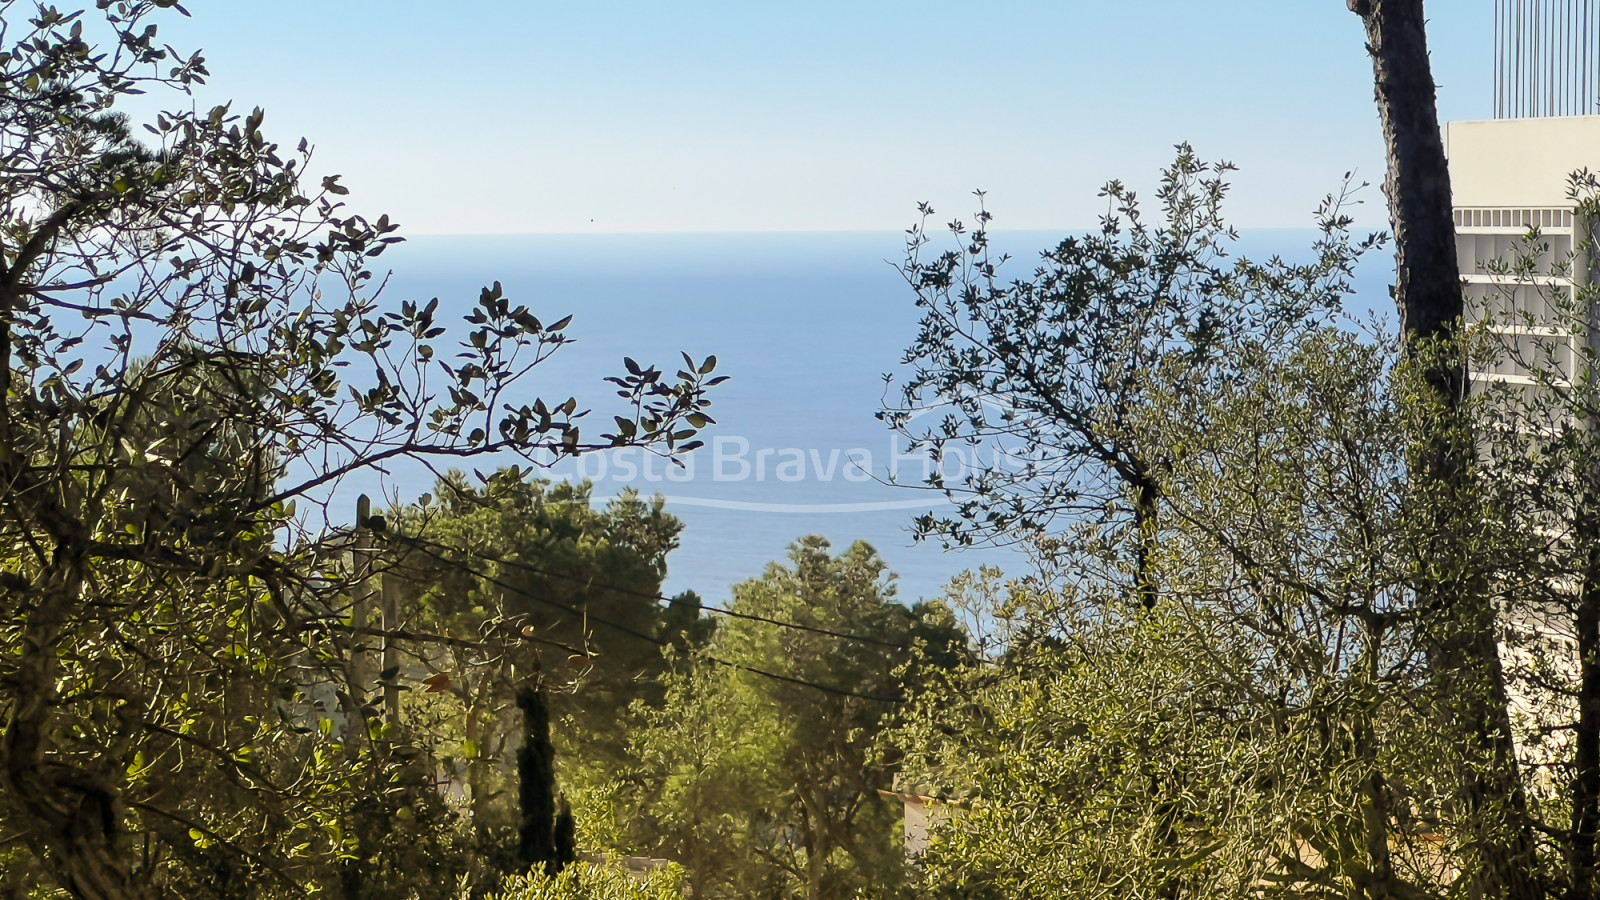
[[[704,653],[680,660],[632,746],[635,839],[682,862],[696,897],[851,897],[901,881],[898,802],[875,749],[896,703],[965,641],[941,604],[894,602],[858,543],[790,548],[734,588]],[[779,625],[781,623],[781,625]],[[938,660],[928,663],[926,660]]]

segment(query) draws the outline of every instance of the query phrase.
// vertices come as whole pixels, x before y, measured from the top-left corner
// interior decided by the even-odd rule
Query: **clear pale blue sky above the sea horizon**
[[[1382,178],[1344,0],[189,0],[202,106],[267,109],[408,234],[898,231],[931,200],[1091,224],[1190,141],[1232,218]],[[1430,8],[1440,112],[1491,101],[1490,0]],[[1366,192],[1363,219],[1382,219]]]

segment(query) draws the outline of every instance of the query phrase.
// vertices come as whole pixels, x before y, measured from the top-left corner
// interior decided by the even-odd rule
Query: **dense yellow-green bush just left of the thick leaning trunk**
[[[1462,756],[1437,727],[1394,344],[1331,325],[1149,373],[1171,458],[1160,602],[1075,575],[992,615],[990,665],[894,737],[958,812],[930,890],[1026,897],[1454,897]],[[1090,560],[1093,562],[1093,560]],[[1448,847],[1448,849],[1446,849]]]

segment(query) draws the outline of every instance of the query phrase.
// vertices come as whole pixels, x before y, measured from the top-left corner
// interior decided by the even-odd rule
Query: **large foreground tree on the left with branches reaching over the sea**
[[[494,285],[446,344],[437,299],[384,301],[395,226],[259,110],[184,109],[163,10],[0,5],[0,852],[80,898],[429,890],[448,814],[339,689],[314,504],[405,460],[686,448],[709,365],[630,362],[586,437],[523,388],[568,319]]]

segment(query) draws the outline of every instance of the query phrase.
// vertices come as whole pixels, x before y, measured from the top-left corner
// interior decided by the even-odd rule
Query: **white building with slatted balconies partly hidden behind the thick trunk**
[[[1582,352],[1554,304],[1595,280],[1589,245],[1595,221],[1578,208],[1571,176],[1600,173],[1600,14],[1594,0],[1496,0],[1496,119],[1445,128],[1454,207],[1456,256],[1467,317],[1490,322],[1506,354],[1472,373],[1478,384],[1536,391],[1528,364],[1554,364],[1558,378],[1581,373]],[[1539,232],[1538,253],[1526,239]],[[1533,261],[1531,274],[1494,274],[1496,261]],[[1600,255],[1597,255],[1600,258]],[[1589,331],[1600,325],[1587,312]],[[1571,322],[1566,317],[1566,322]],[[1566,748],[1534,737],[1574,717],[1562,698],[1515,685],[1576,677],[1570,620],[1522,613],[1506,623],[1502,660],[1512,674],[1518,756],[1531,764],[1534,790],[1552,790],[1546,762]],[[1530,681],[1530,676],[1538,676]]]

